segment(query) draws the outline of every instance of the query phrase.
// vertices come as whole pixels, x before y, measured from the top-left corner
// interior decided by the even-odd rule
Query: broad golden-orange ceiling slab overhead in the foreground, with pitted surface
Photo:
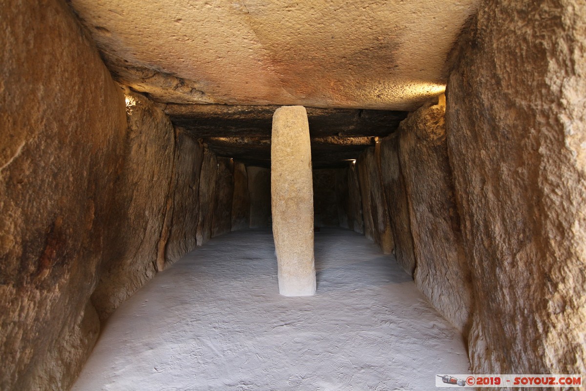
[[[117,80],[159,101],[413,110],[478,2],[71,5]]]

